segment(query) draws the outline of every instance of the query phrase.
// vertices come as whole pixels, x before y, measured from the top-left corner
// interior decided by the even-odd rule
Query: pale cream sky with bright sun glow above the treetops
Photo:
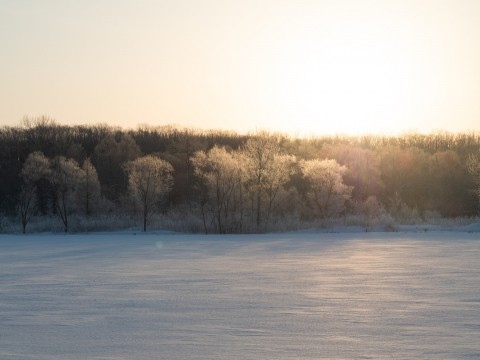
[[[478,0],[0,0],[0,125],[480,131]]]

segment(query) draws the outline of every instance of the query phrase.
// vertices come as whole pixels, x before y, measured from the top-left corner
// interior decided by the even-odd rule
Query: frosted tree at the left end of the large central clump
[[[215,146],[208,152],[198,151],[191,162],[203,190],[200,205],[205,232],[208,232],[206,207],[213,214],[219,233],[241,227],[242,185],[240,164],[235,154]]]

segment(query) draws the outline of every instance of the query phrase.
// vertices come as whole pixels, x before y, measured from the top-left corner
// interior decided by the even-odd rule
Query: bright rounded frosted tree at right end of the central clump
[[[300,167],[309,182],[307,199],[320,218],[340,214],[350,198],[352,188],[343,183],[345,166],[333,159],[302,160]]]

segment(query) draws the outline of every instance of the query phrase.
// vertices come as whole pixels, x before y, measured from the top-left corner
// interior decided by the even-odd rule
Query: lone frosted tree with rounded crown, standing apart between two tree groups
[[[148,155],[125,163],[125,171],[130,193],[142,208],[143,231],[147,231],[155,205],[172,189],[173,167],[165,160]]]

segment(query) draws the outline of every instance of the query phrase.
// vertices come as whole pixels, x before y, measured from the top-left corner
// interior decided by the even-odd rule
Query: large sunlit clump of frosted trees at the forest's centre
[[[261,231],[299,211],[308,217],[337,216],[352,191],[343,183],[346,168],[335,160],[297,161],[267,136],[247,140],[239,151],[217,146],[199,151],[191,161],[206,232],[249,231],[253,224]],[[302,179],[302,189],[294,178]]]

